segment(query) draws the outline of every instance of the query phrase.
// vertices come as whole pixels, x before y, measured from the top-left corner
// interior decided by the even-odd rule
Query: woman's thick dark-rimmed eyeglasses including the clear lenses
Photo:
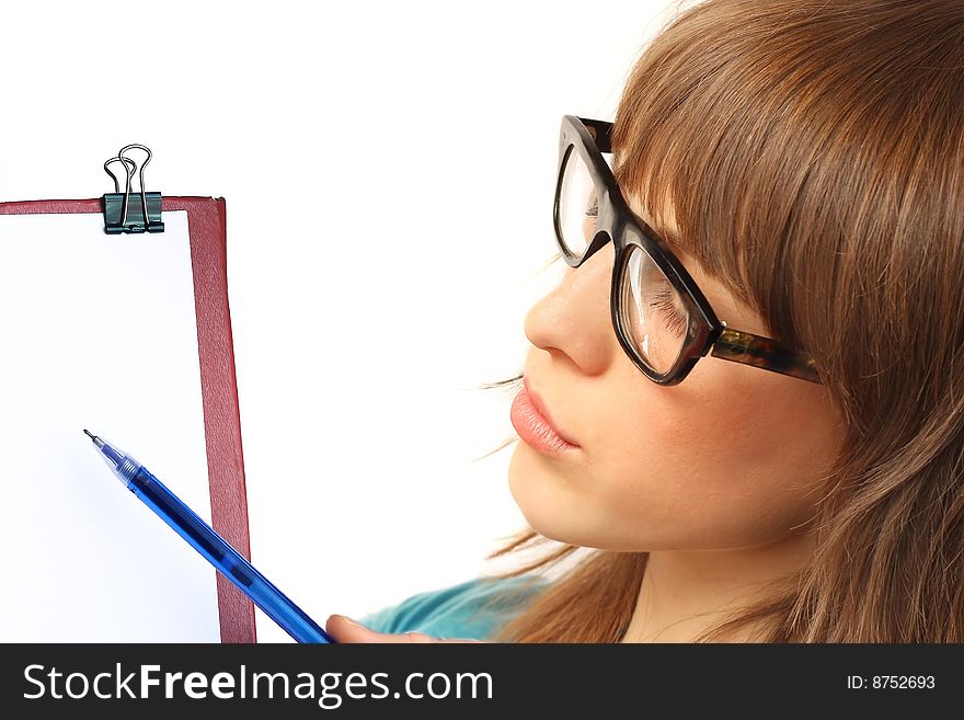
[[[612,123],[564,115],[552,220],[562,256],[578,267],[609,240],[616,248],[612,327],[651,380],[677,385],[714,357],[820,382],[813,358],[771,338],[728,328],[666,241],[630,210],[602,153]]]

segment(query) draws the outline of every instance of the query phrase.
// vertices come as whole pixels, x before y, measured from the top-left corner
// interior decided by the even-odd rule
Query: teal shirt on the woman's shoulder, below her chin
[[[477,578],[413,595],[360,618],[378,632],[417,631],[436,638],[489,640],[521,613],[549,581],[536,575]]]

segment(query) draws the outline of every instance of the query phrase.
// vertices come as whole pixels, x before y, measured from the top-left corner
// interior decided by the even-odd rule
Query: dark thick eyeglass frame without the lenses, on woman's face
[[[612,123],[606,121],[563,115],[559,135],[559,171],[555,181],[552,224],[555,228],[555,241],[560,252],[571,267],[578,267],[596,251],[604,248],[609,240],[612,240],[616,259],[612,265],[609,298],[610,316],[620,345],[636,367],[658,385],[677,385],[689,375],[700,357],[710,353],[722,359],[753,365],[773,373],[820,384],[815,362],[805,352],[785,347],[772,338],[734,330],[716,317],[699,286],[669,250],[666,242],[629,208],[612,171],[602,157],[604,152],[612,152],[611,130]],[[559,201],[562,193],[563,173],[573,152],[578,152],[584,160],[596,185],[598,203],[596,233],[582,255],[572,254],[563,240],[559,225]],[[630,260],[629,245],[631,244],[640,247],[663,271],[678,290],[689,316],[682,350],[673,366],[663,374],[646,365],[638,354],[630,333],[622,327],[622,318],[619,312],[620,278]]]

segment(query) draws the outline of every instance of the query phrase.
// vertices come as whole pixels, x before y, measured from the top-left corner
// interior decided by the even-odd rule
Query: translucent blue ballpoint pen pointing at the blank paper
[[[187,540],[195,550],[248,595],[267,616],[298,642],[335,642],[335,640],[305,612],[288,599],[268,580],[255,570],[244,557],[210,525],[185,505],[140,462],[118,447],[83,431],[93,441],[107,467],[120,482],[137,495],[168,525]]]

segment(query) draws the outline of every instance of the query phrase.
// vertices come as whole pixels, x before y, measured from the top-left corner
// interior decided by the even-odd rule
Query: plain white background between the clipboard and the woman
[[[563,272],[561,116],[612,119],[675,8],[4,3],[0,199],[99,197],[128,142],[147,190],[227,198],[252,560],[319,622],[503,567],[514,446],[472,460],[512,397],[473,388]]]

